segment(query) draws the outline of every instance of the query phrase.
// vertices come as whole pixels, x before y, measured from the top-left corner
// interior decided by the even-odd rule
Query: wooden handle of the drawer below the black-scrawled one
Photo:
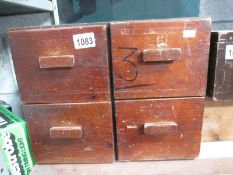
[[[145,135],[163,135],[163,134],[176,134],[177,123],[176,122],[156,122],[145,123],[144,134]]]

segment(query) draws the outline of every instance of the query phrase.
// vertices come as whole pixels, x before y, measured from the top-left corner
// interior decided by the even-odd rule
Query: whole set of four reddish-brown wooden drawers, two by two
[[[112,118],[119,160],[197,156],[210,21],[112,22],[110,64],[106,28],[9,32],[36,161],[113,161]]]

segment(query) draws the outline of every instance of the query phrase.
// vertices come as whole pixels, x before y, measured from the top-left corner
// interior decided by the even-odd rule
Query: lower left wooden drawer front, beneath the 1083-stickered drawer
[[[25,105],[37,163],[104,163],[114,160],[110,103]]]

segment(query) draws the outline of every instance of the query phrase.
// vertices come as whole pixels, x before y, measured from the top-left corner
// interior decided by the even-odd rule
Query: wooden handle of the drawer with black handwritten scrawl
[[[180,60],[181,49],[145,49],[142,52],[144,62],[162,62],[162,61],[174,61]]]

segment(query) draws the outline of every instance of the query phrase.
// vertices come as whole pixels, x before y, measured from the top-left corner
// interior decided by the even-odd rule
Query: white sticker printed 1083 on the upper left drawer
[[[95,34],[93,32],[73,35],[73,41],[75,49],[84,49],[96,46]]]

